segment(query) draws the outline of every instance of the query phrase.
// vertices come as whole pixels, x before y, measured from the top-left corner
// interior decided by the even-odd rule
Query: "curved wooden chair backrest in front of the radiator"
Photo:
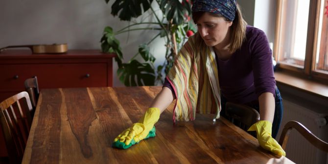
[[[289,121],[283,127],[279,139],[279,144],[281,145],[282,149],[286,148],[289,133],[293,128],[296,129],[312,145],[328,153],[328,143],[320,140],[317,136],[312,134],[312,132],[309,131],[304,125],[302,125],[300,122],[297,121]]]

